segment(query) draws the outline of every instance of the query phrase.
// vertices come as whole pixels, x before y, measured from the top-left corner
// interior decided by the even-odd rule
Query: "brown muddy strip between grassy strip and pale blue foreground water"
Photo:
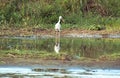
[[[57,66],[57,67],[87,67],[101,69],[120,69],[120,61],[96,60],[44,60],[39,58],[2,58],[0,66]]]

